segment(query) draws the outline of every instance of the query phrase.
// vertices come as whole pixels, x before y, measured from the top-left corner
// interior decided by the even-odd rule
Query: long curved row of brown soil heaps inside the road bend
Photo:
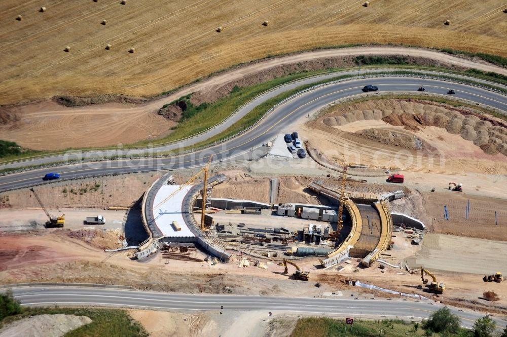
[[[424,126],[436,126],[473,141],[489,155],[501,153],[507,156],[507,128],[501,122],[485,120],[486,117],[477,116],[473,109],[421,102],[396,99],[361,102],[341,107],[321,121],[327,126],[338,127],[362,120],[382,120],[411,131],[419,131]],[[377,137],[374,134],[364,135],[368,138]]]

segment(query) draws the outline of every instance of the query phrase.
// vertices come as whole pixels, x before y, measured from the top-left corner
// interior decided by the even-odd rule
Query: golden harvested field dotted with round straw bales
[[[39,4],[5,0],[0,104],[155,95],[240,62],[321,46],[403,43],[507,55],[497,0],[363,3],[48,0],[39,12]]]

